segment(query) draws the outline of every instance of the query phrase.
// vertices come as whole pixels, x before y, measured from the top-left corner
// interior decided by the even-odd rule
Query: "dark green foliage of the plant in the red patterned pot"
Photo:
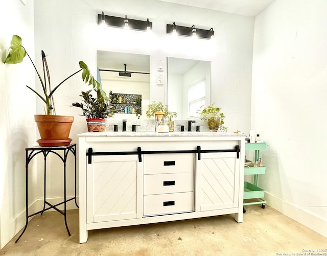
[[[97,98],[91,95],[92,90],[82,91],[80,97],[83,98],[83,103],[73,103],[72,107],[79,107],[83,111],[86,118],[111,118],[114,115],[110,100],[102,97],[98,89],[93,89]]]

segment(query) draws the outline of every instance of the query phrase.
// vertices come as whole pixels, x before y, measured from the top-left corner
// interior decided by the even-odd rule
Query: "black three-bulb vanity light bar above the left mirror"
[[[125,28],[125,29],[132,29],[132,30],[141,30],[141,31],[151,31],[152,30],[152,22],[147,19],[144,20],[137,20],[137,19],[130,19],[125,17],[115,17],[115,16],[108,16],[105,15],[104,12],[102,14],[98,14],[98,25],[106,25],[109,27],[116,27],[116,28]]]

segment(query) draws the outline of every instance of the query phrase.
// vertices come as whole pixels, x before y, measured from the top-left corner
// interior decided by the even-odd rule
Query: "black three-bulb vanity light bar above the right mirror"
[[[189,37],[198,37],[203,39],[211,39],[214,38],[215,31],[213,28],[209,30],[205,29],[199,29],[195,28],[193,25],[192,27],[183,27],[183,26],[177,26],[175,22],[173,24],[167,24],[166,25],[166,33],[167,34],[174,34],[180,36],[189,36]]]

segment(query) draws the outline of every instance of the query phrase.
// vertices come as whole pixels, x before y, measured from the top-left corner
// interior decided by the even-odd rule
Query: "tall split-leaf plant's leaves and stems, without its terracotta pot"
[[[31,89],[38,97],[44,101],[46,105],[46,114],[56,114],[55,108],[54,108],[54,101],[53,101],[53,94],[54,92],[58,89],[60,85],[62,85],[66,80],[69,78],[73,77],[77,73],[82,71],[82,79],[85,83],[88,85],[92,85],[93,88],[97,89],[98,92],[97,94],[101,95],[103,99],[107,99],[107,96],[105,92],[100,88],[99,82],[90,74],[90,71],[87,67],[87,65],[83,62],[80,61],[79,65],[80,68],[77,72],[73,73],[72,75],[68,76],[65,78],[63,81],[61,81],[58,85],[54,86],[53,89],[51,88],[51,83],[50,83],[50,73],[49,73],[49,68],[48,68],[48,63],[46,63],[46,58],[45,58],[45,53],[41,51],[41,56],[42,56],[42,65],[43,65],[43,79],[40,75],[40,73],[37,71],[36,66],[34,62],[32,61],[30,55],[27,53],[26,49],[24,46],[21,44],[21,38],[17,35],[13,35],[12,40],[11,40],[11,46],[9,48],[9,54],[5,60],[6,64],[16,64],[22,62],[22,60],[25,58],[25,56],[28,56],[30,61],[33,64],[33,67],[36,71],[36,74],[41,82],[42,85],[42,91],[43,91],[43,96],[31,88],[30,86],[27,85],[29,89]]]

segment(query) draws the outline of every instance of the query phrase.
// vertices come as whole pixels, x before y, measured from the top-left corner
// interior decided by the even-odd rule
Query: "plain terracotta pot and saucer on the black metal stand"
[[[41,141],[67,141],[74,117],[68,117],[65,115],[36,114],[34,115],[34,120],[37,124]],[[56,143],[55,146],[63,145],[58,145],[58,143]]]

